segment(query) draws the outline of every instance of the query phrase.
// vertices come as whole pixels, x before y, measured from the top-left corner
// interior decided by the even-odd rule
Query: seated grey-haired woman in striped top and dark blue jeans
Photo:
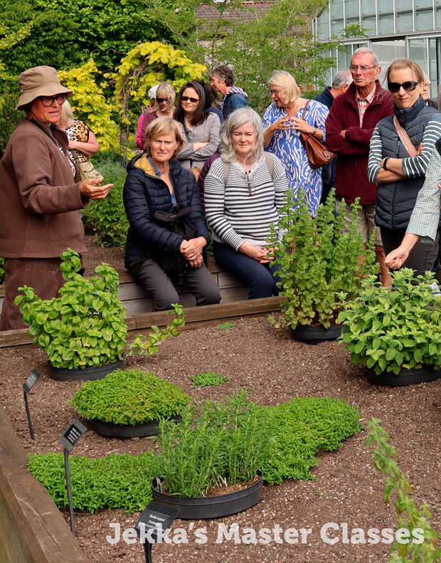
[[[277,295],[279,278],[265,241],[285,201],[285,168],[273,154],[264,154],[262,121],[250,107],[230,114],[221,140],[221,158],[204,181],[216,262],[250,288],[248,299]]]

